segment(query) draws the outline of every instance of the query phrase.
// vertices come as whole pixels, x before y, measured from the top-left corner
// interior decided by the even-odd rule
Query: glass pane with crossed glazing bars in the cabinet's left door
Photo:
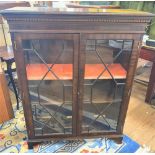
[[[73,41],[23,40],[35,135],[72,133]]]

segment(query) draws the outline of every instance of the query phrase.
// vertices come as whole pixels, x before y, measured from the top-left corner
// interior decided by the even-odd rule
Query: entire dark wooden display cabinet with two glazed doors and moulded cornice
[[[28,144],[121,142],[140,41],[154,16],[133,10],[13,8],[8,21]]]

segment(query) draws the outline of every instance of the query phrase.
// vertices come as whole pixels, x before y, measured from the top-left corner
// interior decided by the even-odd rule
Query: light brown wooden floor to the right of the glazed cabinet
[[[148,76],[146,71],[143,77]],[[155,109],[144,102],[146,89],[146,86],[134,82],[124,134],[155,152]]]

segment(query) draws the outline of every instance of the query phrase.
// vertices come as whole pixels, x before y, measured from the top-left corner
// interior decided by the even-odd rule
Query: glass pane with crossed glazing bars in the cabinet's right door
[[[87,40],[82,133],[116,131],[133,40]]]

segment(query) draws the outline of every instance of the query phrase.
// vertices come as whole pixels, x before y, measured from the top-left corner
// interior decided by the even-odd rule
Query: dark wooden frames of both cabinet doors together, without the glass
[[[33,128],[33,120],[32,117],[32,111],[31,105],[29,103],[28,99],[28,89],[27,89],[27,79],[26,79],[26,69],[25,69],[25,62],[24,62],[24,56],[23,56],[23,49],[22,49],[22,39],[36,39],[36,36],[38,36],[38,39],[55,39],[55,36],[59,36],[58,38],[64,39],[64,36],[72,36],[71,39],[74,40],[74,84],[76,85],[74,90],[74,95],[76,96],[74,98],[74,118],[72,120],[75,120],[73,122],[73,128],[74,128],[74,134],[72,135],[47,135],[47,136],[35,136],[34,135],[34,128]],[[88,37],[89,36],[89,37]],[[24,115],[26,119],[26,126],[28,131],[28,138],[30,140],[33,139],[42,139],[42,138],[74,138],[74,137],[89,137],[89,136],[111,136],[111,135],[122,135],[123,132],[123,126],[125,122],[126,112],[128,108],[129,103],[129,97],[131,94],[131,87],[133,83],[133,75],[135,73],[137,60],[139,56],[139,50],[138,44],[141,40],[142,34],[90,34],[90,33],[81,33],[81,34],[61,34],[61,33],[11,33],[12,42],[14,45],[14,54],[15,54],[15,60],[17,64],[17,74],[19,78],[19,85],[21,87],[22,92],[22,100],[23,100],[23,107],[24,107]],[[70,37],[68,37],[69,39]],[[102,133],[91,133],[91,134],[83,134],[81,133],[81,121],[82,121],[82,94],[83,94],[83,80],[84,80],[84,51],[85,51],[85,43],[86,39],[132,39],[133,40],[133,49],[130,56],[130,62],[129,62],[129,70],[127,72],[127,78],[126,78],[126,85],[125,85],[125,91],[123,95],[123,102],[120,107],[120,114],[118,119],[118,126],[116,132],[102,132]],[[73,85],[74,85],[73,84]],[[78,110],[77,110],[78,109]]]

